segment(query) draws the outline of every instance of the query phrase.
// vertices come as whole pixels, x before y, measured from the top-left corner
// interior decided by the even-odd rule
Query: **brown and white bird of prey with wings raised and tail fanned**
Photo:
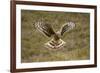
[[[52,26],[44,21],[38,21],[35,23],[35,27],[37,30],[39,30],[41,33],[45,34],[48,37],[52,37],[50,41],[45,43],[45,46],[47,48],[52,48],[52,49],[59,49],[63,46],[65,46],[65,43],[61,37],[65,32],[70,31],[75,27],[74,22],[66,22],[65,24],[62,25],[61,29],[57,32],[55,32],[52,28]]]

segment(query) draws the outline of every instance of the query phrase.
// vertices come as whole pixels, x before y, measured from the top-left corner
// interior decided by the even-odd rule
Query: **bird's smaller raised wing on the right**
[[[69,30],[73,29],[75,27],[75,23],[74,22],[68,22],[65,23],[60,30],[60,34],[63,35],[64,32],[68,32]]]

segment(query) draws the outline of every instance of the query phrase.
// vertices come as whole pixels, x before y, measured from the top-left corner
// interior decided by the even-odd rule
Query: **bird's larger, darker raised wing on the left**
[[[51,37],[55,34],[53,28],[50,24],[44,23],[43,21],[38,21],[35,23],[35,27],[46,36]]]

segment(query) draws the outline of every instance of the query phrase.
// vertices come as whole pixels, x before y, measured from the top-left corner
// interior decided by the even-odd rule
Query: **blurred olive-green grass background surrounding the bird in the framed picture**
[[[76,27],[65,33],[62,39],[66,46],[59,50],[49,50],[44,44],[46,37],[34,27],[34,22],[43,18],[55,31],[73,21]],[[88,13],[21,11],[21,62],[86,60],[90,58],[90,15]]]

